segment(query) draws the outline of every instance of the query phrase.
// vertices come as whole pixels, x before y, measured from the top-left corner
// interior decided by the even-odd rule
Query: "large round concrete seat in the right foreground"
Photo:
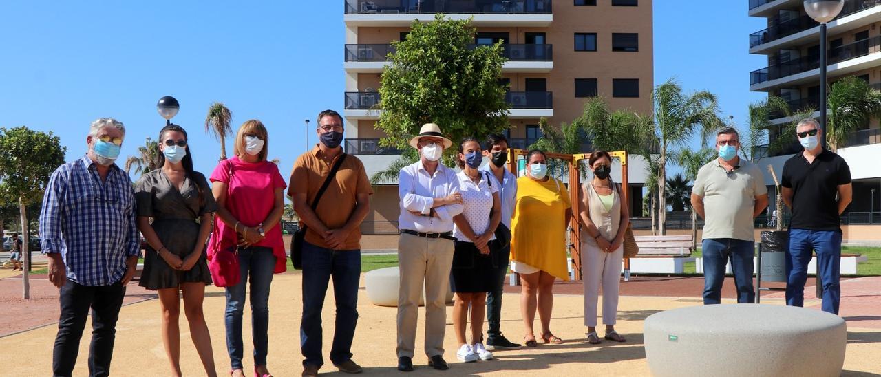
[[[838,315],[753,304],[652,314],[644,333],[655,376],[838,376],[848,340]]]

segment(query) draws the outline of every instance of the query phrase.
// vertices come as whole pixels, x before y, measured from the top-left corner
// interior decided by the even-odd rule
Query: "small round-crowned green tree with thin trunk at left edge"
[[[18,198],[21,216],[21,235],[25,250],[29,250],[30,230],[27,220],[27,206],[39,203],[46,188],[49,175],[64,163],[64,152],[59,138],[51,132],[44,133],[25,126],[13,129],[0,128],[0,181],[3,181],[5,195]],[[30,299],[30,283],[27,271],[30,269],[30,253],[25,255],[25,270],[22,271],[22,297]]]

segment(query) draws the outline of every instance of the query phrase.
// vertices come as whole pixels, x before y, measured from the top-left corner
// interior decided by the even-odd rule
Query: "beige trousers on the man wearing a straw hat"
[[[397,296],[397,357],[412,358],[422,287],[426,288],[426,355],[443,355],[447,291],[453,240],[402,233],[397,241],[400,281]]]

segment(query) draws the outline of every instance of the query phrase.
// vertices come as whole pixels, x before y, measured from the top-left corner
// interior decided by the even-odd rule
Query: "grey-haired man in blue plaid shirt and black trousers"
[[[93,122],[88,152],[56,169],[43,198],[41,246],[49,256],[49,280],[61,289],[52,354],[56,376],[73,373],[90,308],[89,374],[110,373],[116,319],[140,254],[131,179],[114,163],[123,137],[121,122]]]

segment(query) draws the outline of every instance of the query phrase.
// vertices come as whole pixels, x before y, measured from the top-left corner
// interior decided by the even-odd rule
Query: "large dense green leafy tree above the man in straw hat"
[[[470,46],[477,29],[469,19],[435,16],[433,22],[414,21],[404,41],[393,41],[396,53],[382,72],[380,113],[376,129],[383,131],[381,144],[410,148],[407,141],[429,122],[441,126],[454,143],[463,137],[482,139],[508,127],[506,85],[500,83],[505,63],[501,44]],[[451,163],[453,148],[445,154]],[[405,153],[373,181],[389,177],[397,166],[418,159]],[[395,178],[398,170],[394,170]]]

